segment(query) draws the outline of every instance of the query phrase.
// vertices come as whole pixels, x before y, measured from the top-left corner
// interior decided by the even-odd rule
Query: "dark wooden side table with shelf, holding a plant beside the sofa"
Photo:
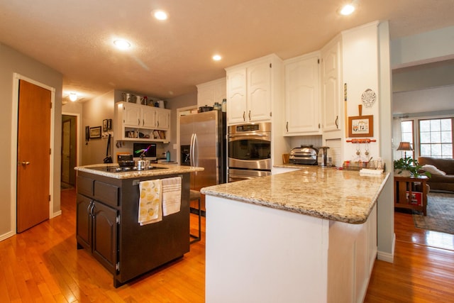
[[[394,207],[415,209],[427,215],[427,176],[394,176]],[[421,192],[416,191],[416,184],[421,184]]]

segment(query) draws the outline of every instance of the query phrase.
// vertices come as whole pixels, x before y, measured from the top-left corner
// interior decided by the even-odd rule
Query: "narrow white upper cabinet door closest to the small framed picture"
[[[341,131],[343,115],[341,97],[341,39],[335,39],[321,50],[321,98],[323,132]]]

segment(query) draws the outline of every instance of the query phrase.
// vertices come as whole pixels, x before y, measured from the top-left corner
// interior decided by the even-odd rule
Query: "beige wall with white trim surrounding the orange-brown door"
[[[16,182],[11,182],[11,178],[15,175],[13,169],[16,165],[11,163],[12,156],[16,154],[16,148],[13,147],[11,133],[16,125],[12,125],[13,111],[13,74],[18,73],[23,77],[28,77],[49,87],[55,88],[55,118],[53,127],[55,130],[55,138],[52,146],[54,155],[52,157],[53,170],[53,213],[60,211],[60,149],[61,138],[58,133],[61,129],[61,111],[62,111],[62,75],[56,70],[43,65],[42,63],[33,60],[33,58],[23,55],[9,46],[0,43],[0,158],[7,163],[3,167],[0,175],[0,240],[13,235],[16,231],[12,230],[13,220],[15,222],[15,206],[16,201],[11,201],[13,195],[11,193],[16,190]],[[13,167],[13,168],[11,168]],[[39,176],[36,176],[39,177]],[[13,211],[14,210],[14,211]],[[15,224],[14,224],[15,225]]]

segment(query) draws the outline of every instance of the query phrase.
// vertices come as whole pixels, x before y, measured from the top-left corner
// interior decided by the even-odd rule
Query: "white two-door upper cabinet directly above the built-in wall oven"
[[[273,85],[280,81],[271,70],[281,64],[276,55],[268,55],[226,69],[228,125],[271,121]]]

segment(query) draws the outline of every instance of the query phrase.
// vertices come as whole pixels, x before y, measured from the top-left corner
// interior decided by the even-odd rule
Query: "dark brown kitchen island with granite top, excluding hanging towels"
[[[77,248],[85,248],[114,275],[114,286],[181,258],[189,251],[189,176],[203,167],[153,164],[117,172],[116,164],[77,170]],[[141,225],[139,184],[181,177],[179,211]]]

